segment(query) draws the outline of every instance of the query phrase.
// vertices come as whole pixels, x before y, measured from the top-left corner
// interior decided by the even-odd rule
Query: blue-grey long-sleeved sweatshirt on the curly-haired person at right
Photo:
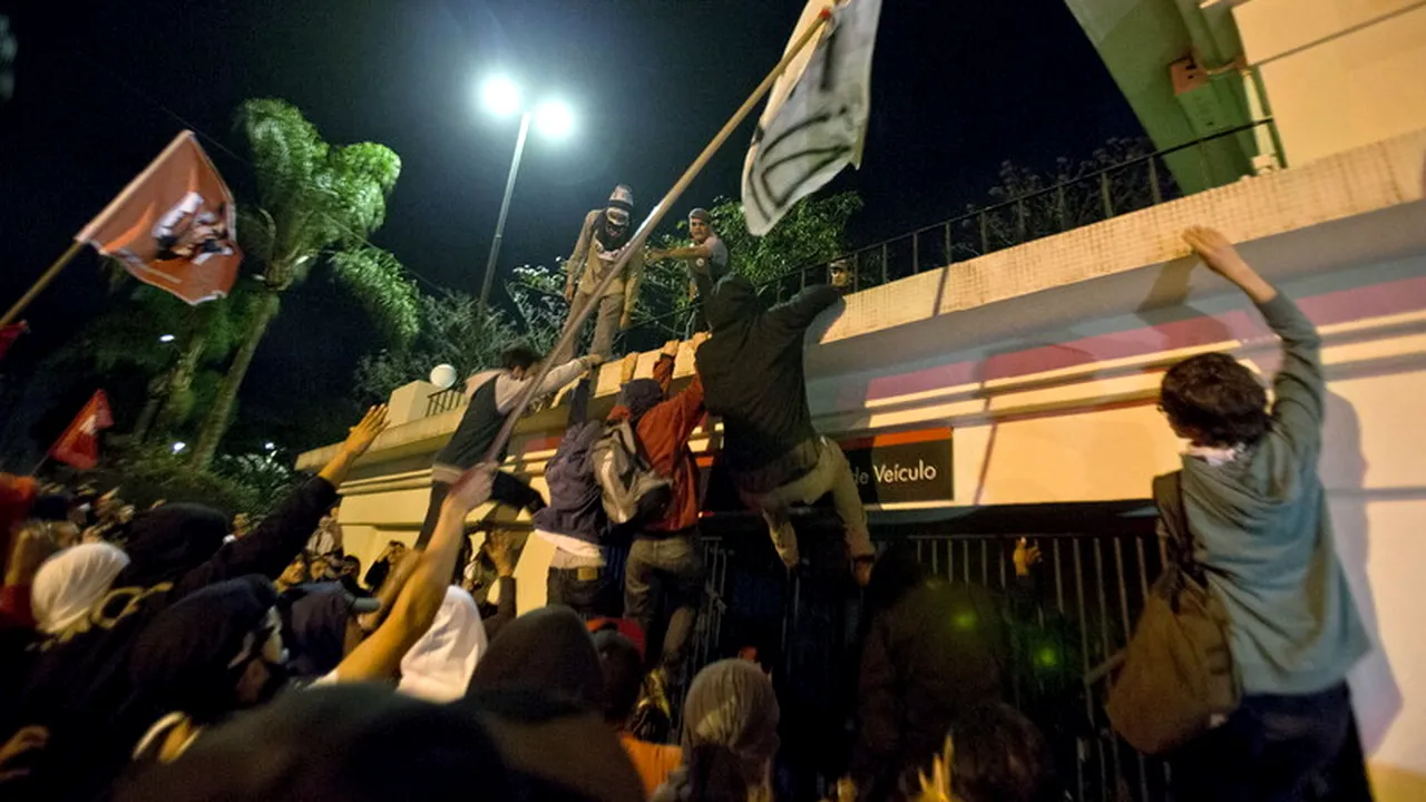
[[[1370,642],[1336,557],[1318,477],[1322,341],[1281,293],[1258,310],[1283,347],[1272,424],[1222,465],[1185,455],[1184,509],[1195,558],[1228,611],[1243,692],[1312,694],[1340,682]]]

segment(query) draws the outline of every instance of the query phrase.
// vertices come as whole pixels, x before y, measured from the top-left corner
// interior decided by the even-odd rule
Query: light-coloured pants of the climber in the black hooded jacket
[[[777,555],[791,568],[797,565],[797,532],[787,519],[787,509],[794,504],[811,504],[831,494],[831,504],[846,529],[847,551],[853,558],[874,554],[871,535],[867,531],[867,511],[857,494],[857,479],[851,478],[851,465],[837,444],[826,437],[817,438],[817,464],[800,478],[767,492],[739,492],[743,504],[761,511],[767,521],[767,534],[773,538]]]

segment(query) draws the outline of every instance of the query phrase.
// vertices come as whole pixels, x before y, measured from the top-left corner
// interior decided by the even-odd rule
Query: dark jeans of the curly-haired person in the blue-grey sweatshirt
[[[1175,802],[1370,799],[1346,684],[1243,696],[1219,728],[1169,758]]]

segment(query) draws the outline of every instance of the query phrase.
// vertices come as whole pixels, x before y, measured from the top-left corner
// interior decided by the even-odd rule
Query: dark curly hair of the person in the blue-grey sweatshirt
[[[1268,392],[1228,354],[1199,354],[1164,374],[1159,408],[1202,445],[1253,445],[1268,432]]]

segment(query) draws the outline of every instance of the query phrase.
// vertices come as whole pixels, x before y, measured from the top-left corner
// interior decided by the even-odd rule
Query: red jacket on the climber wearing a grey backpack
[[[653,380],[669,392],[673,384],[673,357],[659,355],[653,365]],[[673,481],[673,501],[663,521],[649,525],[653,532],[676,532],[699,522],[699,465],[689,450],[693,430],[703,421],[703,380],[693,374],[693,382],[673,398],[667,398],[639,418],[635,434],[653,469]],[[627,417],[622,404],[609,412],[609,420]]]

